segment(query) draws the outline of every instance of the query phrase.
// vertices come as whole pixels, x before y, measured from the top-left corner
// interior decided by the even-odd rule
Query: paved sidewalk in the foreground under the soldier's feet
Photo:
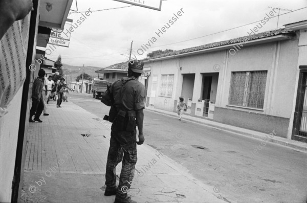
[[[56,108],[54,101],[49,102],[50,116],[42,116],[43,123],[29,125],[21,199],[114,202],[115,196],[103,195],[110,124],[72,102],[61,106]],[[225,202],[213,187],[146,144],[138,146],[136,174],[128,194],[141,203]]]

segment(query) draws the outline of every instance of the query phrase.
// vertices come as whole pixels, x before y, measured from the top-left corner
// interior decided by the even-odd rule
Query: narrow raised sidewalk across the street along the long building
[[[178,115],[177,115],[176,112],[170,112],[170,111],[156,109],[156,108],[146,108],[146,110],[150,110],[150,111],[153,111],[153,112],[157,112],[158,114],[163,114],[163,115],[166,115],[166,116],[178,118]],[[307,153],[307,143],[302,143],[302,142],[298,142],[298,141],[295,141],[295,140],[289,140],[289,139],[286,139],[286,138],[280,138],[280,137],[277,137],[277,136],[269,136],[269,133],[266,134],[266,133],[257,132],[257,131],[249,130],[249,129],[245,129],[245,128],[240,128],[240,127],[236,127],[236,126],[232,126],[232,125],[226,125],[226,124],[223,124],[223,123],[218,123],[218,122],[207,120],[207,119],[192,117],[192,116],[189,116],[188,114],[184,114],[182,120],[200,123],[200,124],[206,125],[208,127],[212,127],[212,128],[216,128],[216,129],[220,129],[220,130],[224,130],[224,131],[228,131],[228,132],[233,132],[233,133],[236,133],[236,134],[240,134],[242,136],[247,136],[247,137],[251,137],[251,138],[255,138],[255,139],[265,140],[266,142],[276,143],[276,144],[279,144],[279,145],[290,147],[290,148],[298,150],[300,152]]]

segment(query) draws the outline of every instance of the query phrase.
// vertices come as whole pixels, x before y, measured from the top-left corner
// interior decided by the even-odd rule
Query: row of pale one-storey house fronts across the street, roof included
[[[146,106],[176,111],[183,96],[191,116],[295,139],[307,42],[306,21],[294,25],[145,59],[151,70]],[[307,119],[297,120],[303,127],[296,131],[304,134]]]

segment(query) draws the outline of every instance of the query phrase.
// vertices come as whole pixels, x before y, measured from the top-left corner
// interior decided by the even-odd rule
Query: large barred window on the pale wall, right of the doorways
[[[232,72],[228,104],[263,108],[267,71]]]

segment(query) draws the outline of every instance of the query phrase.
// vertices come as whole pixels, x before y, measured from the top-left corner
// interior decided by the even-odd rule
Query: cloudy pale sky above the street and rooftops
[[[78,12],[89,9],[93,12],[71,33],[69,48],[57,47],[46,55],[52,60],[61,55],[62,63],[75,66],[106,67],[127,61],[131,41],[132,55],[142,59],[156,50],[181,50],[247,36],[258,22],[243,25],[264,19],[272,11],[268,7],[281,9],[278,28],[307,19],[307,8],[301,9],[307,7],[307,0],[167,0],[162,2],[161,11],[139,6],[126,7],[131,5],[114,0],[78,0],[77,6]],[[118,7],[126,8],[104,10]],[[76,0],[71,9],[76,10]],[[294,11],[297,9],[301,10]],[[184,13],[176,21],[172,20],[173,24],[169,23],[169,27],[167,22],[180,10]],[[289,10],[294,12],[284,14]],[[68,18],[73,19],[73,24],[77,23],[82,13],[70,12]],[[159,33],[159,29],[165,25],[169,28],[158,36],[156,32]],[[243,27],[232,29],[238,26]],[[258,33],[276,27],[277,17],[274,17]],[[232,30],[225,31],[228,29]],[[147,46],[148,49],[144,46],[146,43],[150,46]],[[141,46],[145,48],[144,53],[139,50]]]

